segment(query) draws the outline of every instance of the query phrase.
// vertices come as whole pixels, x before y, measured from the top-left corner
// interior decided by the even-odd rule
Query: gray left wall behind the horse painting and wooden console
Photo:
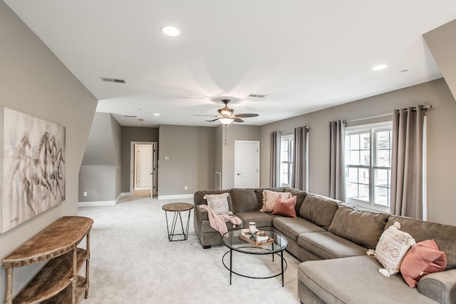
[[[33,32],[0,1],[0,106],[66,127],[66,201],[0,234],[0,258],[61,216],[78,211],[78,172],[97,100]],[[14,271],[14,293],[41,268]],[[4,299],[0,268],[0,299]]]

